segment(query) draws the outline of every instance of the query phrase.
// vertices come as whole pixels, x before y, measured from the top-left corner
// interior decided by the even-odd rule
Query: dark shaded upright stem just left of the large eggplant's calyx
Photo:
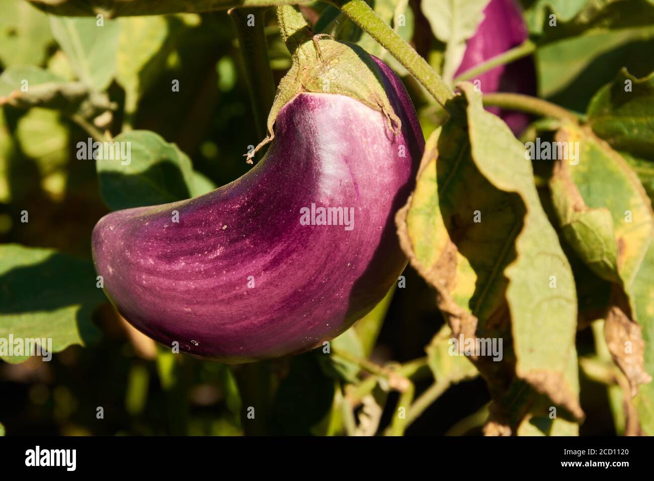
[[[266,120],[275,98],[275,79],[270,68],[264,34],[265,12],[266,10],[261,8],[232,9],[228,12],[239,38],[259,138],[266,137]]]

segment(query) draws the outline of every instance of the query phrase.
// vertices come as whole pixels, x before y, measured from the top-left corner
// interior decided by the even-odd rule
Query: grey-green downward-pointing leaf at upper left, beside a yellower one
[[[105,90],[116,72],[120,24],[96,18],[50,16],[50,28],[78,79],[95,90]]]

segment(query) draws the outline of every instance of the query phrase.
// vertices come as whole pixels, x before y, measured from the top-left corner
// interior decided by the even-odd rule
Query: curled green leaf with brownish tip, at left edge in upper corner
[[[43,107],[64,115],[93,118],[113,109],[106,94],[84,82],[67,82],[33,65],[13,65],[0,75],[0,105],[19,109]]]

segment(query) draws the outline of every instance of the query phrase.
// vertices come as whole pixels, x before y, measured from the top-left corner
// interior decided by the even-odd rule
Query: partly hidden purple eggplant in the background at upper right
[[[515,0],[490,0],[475,34],[468,39],[466,52],[456,75],[521,45],[528,37],[522,11]],[[514,92],[536,95],[536,69],[532,58],[521,58],[508,65],[500,65],[475,79],[481,80],[481,90]],[[472,80],[475,80],[472,79]],[[499,107],[488,110],[502,117],[514,133],[522,132],[530,117],[524,113],[507,111]]]

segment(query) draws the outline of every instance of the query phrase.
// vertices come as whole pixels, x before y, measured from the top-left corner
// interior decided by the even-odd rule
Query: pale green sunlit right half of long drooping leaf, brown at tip
[[[498,117],[483,109],[472,84],[460,86],[468,98],[472,158],[489,181],[515,192],[525,206],[516,258],[506,268],[515,371],[537,391],[583,418],[575,334],[577,297],[572,269],[538,198],[525,147]]]

